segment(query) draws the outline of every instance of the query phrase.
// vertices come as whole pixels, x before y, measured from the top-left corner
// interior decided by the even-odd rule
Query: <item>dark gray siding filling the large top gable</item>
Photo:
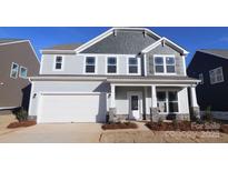
[[[151,36],[143,36],[142,31],[117,31],[116,36],[110,34],[81,53],[138,54],[156,40]]]

